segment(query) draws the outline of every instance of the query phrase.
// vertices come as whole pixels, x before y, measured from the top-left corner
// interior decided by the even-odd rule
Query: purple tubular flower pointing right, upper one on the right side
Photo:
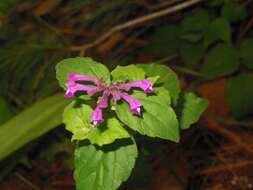
[[[153,93],[154,89],[152,87],[152,82],[148,79],[140,80],[140,81],[133,81],[126,84],[123,84],[123,89],[130,90],[131,88],[141,88],[145,93]]]

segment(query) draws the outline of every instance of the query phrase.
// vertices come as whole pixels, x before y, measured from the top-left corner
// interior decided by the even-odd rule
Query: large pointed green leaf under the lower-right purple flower
[[[157,90],[157,89],[156,89]],[[131,96],[138,98],[143,105],[142,116],[133,115],[129,105],[122,101],[116,106],[118,118],[133,130],[150,137],[160,137],[175,142],[179,140],[178,121],[175,112],[168,106],[164,96],[148,96],[134,92]]]

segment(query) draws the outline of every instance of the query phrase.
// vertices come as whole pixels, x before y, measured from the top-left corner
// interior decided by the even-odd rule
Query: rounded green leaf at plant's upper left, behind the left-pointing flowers
[[[68,58],[60,61],[56,66],[56,78],[62,88],[66,89],[68,73],[76,72],[96,78],[103,78],[104,81],[110,83],[110,72],[101,63],[98,63],[88,57]]]

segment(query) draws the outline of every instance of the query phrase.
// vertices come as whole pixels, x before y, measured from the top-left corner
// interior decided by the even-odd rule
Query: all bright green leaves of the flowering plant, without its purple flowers
[[[59,62],[56,67],[57,78],[64,89],[66,76],[73,71],[103,77],[110,83],[109,71],[101,64],[89,58],[71,58]],[[94,74],[94,71],[97,73]],[[111,76],[113,83],[149,78],[155,92],[145,94],[137,89],[128,92],[141,102],[141,116],[134,115],[125,101],[111,101],[109,107],[112,106],[115,112],[106,108],[103,112],[104,122],[96,127],[91,119],[96,106],[93,98],[96,97],[77,94],[77,99],[65,108],[63,122],[66,129],[73,133],[72,140],[89,140],[87,143],[80,141],[76,148],[75,180],[79,190],[114,190],[130,176],[137,157],[135,143],[129,143],[134,131],[150,137],[179,141],[179,123],[171,103],[177,104],[180,88],[172,70],[159,64],[118,66]],[[206,104],[196,95],[186,96],[183,115],[179,118],[182,128],[188,128],[196,122]]]

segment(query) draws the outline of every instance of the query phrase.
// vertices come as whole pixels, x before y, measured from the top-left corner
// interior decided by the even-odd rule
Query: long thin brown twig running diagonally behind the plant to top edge
[[[98,37],[97,39],[95,39],[95,41],[91,42],[91,43],[87,43],[84,45],[80,45],[80,46],[72,46],[70,47],[70,51],[80,51],[80,55],[84,55],[85,51],[87,49],[90,49],[92,47],[97,46],[98,44],[100,44],[101,42],[103,42],[104,40],[106,40],[108,37],[110,37],[112,34],[114,34],[115,32],[119,32],[121,30],[124,30],[126,28],[130,28],[130,27],[134,27],[138,24],[150,21],[150,20],[154,20],[156,18],[168,15],[168,14],[172,14],[175,13],[177,11],[180,11],[182,9],[185,9],[187,7],[193,6],[197,3],[200,3],[204,0],[186,0],[183,3],[180,3],[178,5],[172,6],[172,7],[168,7],[166,9],[162,9],[160,11],[156,11],[154,13],[151,13],[149,15],[145,15],[130,21],[127,21],[125,23],[119,24],[113,28],[111,28],[109,31],[105,32],[104,34],[102,34],[100,37]]]

